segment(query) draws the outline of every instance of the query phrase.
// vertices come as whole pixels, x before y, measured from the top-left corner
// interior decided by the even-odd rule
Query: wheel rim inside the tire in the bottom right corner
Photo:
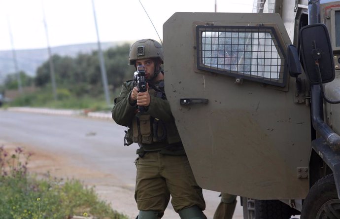
[[[316,215],[316,219],[338,219],[338,218],[340,218],[339,199],[331,199],[324,203]]]

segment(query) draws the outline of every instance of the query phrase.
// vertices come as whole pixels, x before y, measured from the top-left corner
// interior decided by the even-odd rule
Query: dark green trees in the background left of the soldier
[[[134,67],[129,63],[129,44],[111,47],[103,51],[109,89],[113,92],[120,88],[123,81],[133,78]],[[79,53],[76,57],[53,55],[54,72],[57,88],[68,89],[76,96],[89,94],[98,96],[103,93],[102,74],[98,51],[90,54]],[[36,70],[35,76],[20,72],[22,86],[44,88],[51,85],[49,60],[46,60]],[[2,90],[17,89],[17,74],[8,74],[2,85]]]

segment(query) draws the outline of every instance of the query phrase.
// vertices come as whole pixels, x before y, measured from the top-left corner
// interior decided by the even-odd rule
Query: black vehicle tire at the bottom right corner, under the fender
[[[340,219],[340,200],[333,174],[318,180],[303,203],[302,219]]]

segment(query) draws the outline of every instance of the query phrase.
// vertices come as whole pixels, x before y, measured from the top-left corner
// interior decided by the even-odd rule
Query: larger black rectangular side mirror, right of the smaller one
[[[333,50],[324,24],[311,24],[300,30],[302,61],[311,84],[328,83],[335,78]],[[320,72],[318,70],[320,69]]]

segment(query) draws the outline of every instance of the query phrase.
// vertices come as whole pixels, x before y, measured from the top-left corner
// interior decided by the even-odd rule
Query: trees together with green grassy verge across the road
[[[125,80],[133,79],[134,67],[128,66],[129,44],[103,51],[111,102]],[[34,92],[24,92],[4,107],[29,106],[46,108],[107,110],[103,94],[102,73],[98,51],[78,54],[76,57],[53,55],[57,87],[54,100],[49,60],[36,70],[35,76],[20,72],[22,87],[34,87]],[[18,90],[18,74],[8,74],[0,85],[0,93]],[[118,88],[118,89],[117,89]]]

